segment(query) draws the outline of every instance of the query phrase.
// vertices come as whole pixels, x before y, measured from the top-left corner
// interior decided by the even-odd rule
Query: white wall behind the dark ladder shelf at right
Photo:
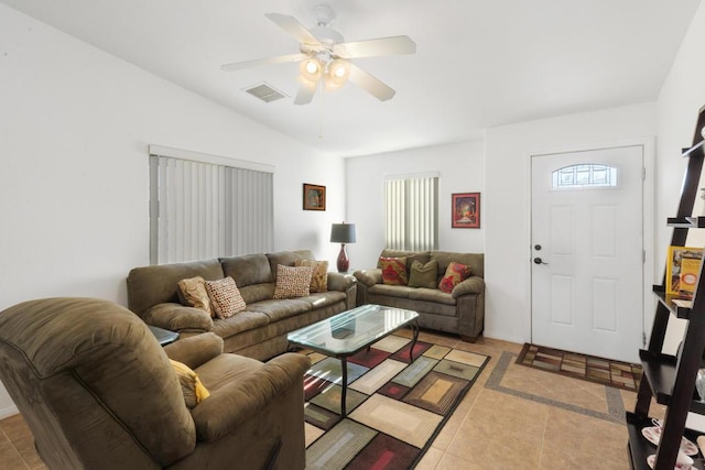
[[[679,54],[661,88],[658,109],[658,168],[657,182],[657,256],[665,260],[672,230],[665,227],[668,217],[677,209],[681,184],[687,164],[680,156],[681,149],[693,143],[695,123],[701,107],[705,106],[705,3],[693,17]],[[702,238],[702,233],[698,233]],[[690,241],[690,237],[688,237]],[[701,242],[702,244],[702,242]],[[660,274],[663,274],[661,263]],[[665,350],[673,352],[682,339],[684,321],[669,325]]]

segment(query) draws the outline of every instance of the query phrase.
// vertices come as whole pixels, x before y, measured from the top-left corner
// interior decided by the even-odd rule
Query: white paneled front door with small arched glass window
[[[643,147],[534,155],[531,167],[532,342],[636,362]]]

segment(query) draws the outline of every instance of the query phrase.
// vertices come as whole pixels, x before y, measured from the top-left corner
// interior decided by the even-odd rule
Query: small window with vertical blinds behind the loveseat
[[[384,181],[384,247],[437,250],[438,176],[409,175]]]

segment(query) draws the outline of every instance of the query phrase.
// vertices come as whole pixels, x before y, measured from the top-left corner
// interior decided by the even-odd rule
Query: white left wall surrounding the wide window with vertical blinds
[[[0,103],[0,309],[50,296],[127,304],[128,271],[149,264],[150,143],[274,165],[275,249],[335,264],[340,159],[3,4]],[[325,212],[302,210],[303,183],[327,186]],[[0,417],[14,412],[0,387]]]

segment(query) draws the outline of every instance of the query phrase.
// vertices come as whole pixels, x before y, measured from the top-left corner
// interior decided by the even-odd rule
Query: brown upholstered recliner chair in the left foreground
[[[210,392],[193,409],[170,358]],[[295,353],[267,363],[223,353],[214,334],[162,348],[140,318],[105,300],[0,313],[0,380],[52,469],[302,469],[308,367]]]

